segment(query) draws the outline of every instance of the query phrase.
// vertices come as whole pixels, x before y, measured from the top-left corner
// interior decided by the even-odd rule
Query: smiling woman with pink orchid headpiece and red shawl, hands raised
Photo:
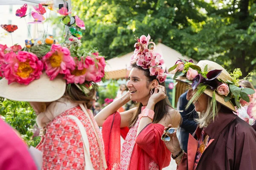
[[[148,48],[151,44],[154,47]],[[161,170],[171,161],[161,133],[170,122],[178,127],[181,117],[166,98],[164,60],[154,51],[150,36],[137,38],[134,47],[129,91],[100,111],[95,120],[103,127],[108,170]],[[130,100],[137,101],[138,106],[117,112]],[[122,151],[120,135],[125,139]]]

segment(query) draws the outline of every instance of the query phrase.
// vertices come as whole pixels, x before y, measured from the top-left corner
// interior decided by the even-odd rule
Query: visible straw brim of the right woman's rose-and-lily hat
[[[184,82],[186,84],[192,85],[192,83],[186,82],[187,78],[185,78],[185,77],[177,77],[175,80],[178,80],[178,81]],[[204,94],[206,94],[209,97],[212,97],[213,91],[211,89],[207,88],[204,91]],[[236,109],[235,109],[234,105],[230,101],[225,102],[224,96],[221,96],[218,93],[215,93],[215,98],[216,98],[216,101],[218,103],[220,103],[221,105],[224,105],[225,107],[229,108],[231,111],[236,112]]]

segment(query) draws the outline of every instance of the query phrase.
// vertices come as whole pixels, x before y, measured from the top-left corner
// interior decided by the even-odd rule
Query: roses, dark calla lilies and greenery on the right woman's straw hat
[[[215,64],[218,65],[217,63]],[[177,79],[178,77],[186,78],[185,82],[190,83],[193,90],[198,89],[195,95],[192,96],[192,99],[189,100],[187,108],[207,89],[213,91],[211,102],[213,112],[216,111],[215,91],[220,96],[224,97],[224,102],[231,102],[237,109],[241,107],[243,100],[250,102],[249,96],[254,94],[255,91],[251,88],[243,88],[239,85],[239,77],[242,76],[240,68],[236,68],[233,73],[221,75],[223,72],[221,69],[208,71],[208,65],[205,65],[204,70],[202,70],[198,65],[195,65],[192,60],[186,61],[180,59],[172,68],[169,68],[169,72],[174,73],[173,79]],[[221,67],[220,65],[218,66]],[[251,75],[253,75],[253,73],[248,74],[248,76]],[[248,76],[244,79],[251,81],[251,77]]]

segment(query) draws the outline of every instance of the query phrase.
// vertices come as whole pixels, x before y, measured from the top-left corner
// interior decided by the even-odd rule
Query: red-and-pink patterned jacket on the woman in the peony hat
[[[89,114],[94,122],[92,113]],[[42,170],[84,170],[84,149],[80,130],[67,115],[74,115],[83,123],[89,139],[93,168],[103,170],[103,164],[100,169],[101,156],[95,133],[89,119],[79,106],[65,111],[47,125],[46,134],[42,136],[37,146],[43,152]],[[96,122],[94,125],[96,126]],[[97,133],[102,140],[99,130]]]

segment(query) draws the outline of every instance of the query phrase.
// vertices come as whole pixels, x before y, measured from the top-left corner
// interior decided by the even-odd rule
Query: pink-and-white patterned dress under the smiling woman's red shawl
[[[145,107],[142,108],[142,111],[144,108]],[[125,138],[125,142],[122,145],[120,170],[128,170],[129,168],[129,164],[131,161],[131,154],[134,148],[139,123],[140,123],[140,120],[138,119],[135,125],[131,127],[131,129],[129,130]],[[153,159],[150,159],[149,170],[159,170],[157,163],[155,163]]]

